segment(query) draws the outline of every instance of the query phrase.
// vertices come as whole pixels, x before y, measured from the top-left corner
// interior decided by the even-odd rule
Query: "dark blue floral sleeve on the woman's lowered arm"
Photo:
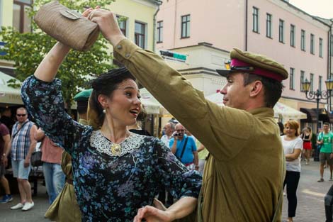
[[[160,140],[154,142],[154,150],[154,167],[161,186],[176,199],[183,196],[198,198],[201,175],[195,170],[188,171]]]

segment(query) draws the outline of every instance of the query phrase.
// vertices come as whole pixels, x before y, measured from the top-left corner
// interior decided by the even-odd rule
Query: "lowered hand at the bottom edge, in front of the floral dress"
[[[153,206],[145,206],[137,211],[134,222],[141,222],[145,218],[147,222],[169,222],[174,221],[172,211],[161,211]]]

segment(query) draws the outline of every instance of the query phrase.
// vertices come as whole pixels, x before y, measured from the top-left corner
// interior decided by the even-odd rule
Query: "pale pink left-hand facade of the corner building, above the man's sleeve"
[[[198,43],[212,43],[214,47],[230,51],[244,48],[244,0],[164,0],[157,14],[163,21],[163,43],[157,48],[172,49]],[[181,39],[181,16],[191,14],[191,38]],[[232,22],[230,22],[232,21]]]

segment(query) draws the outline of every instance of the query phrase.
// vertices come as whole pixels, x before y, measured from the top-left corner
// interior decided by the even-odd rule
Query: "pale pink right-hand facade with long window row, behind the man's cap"
[[[286,4],[281,4],[284,6]],[[259,34],[252,31],[252,8],[259,9]],[[300,91],[300,70],[305,71],[305,78],[310,80],[310,73],[314,74],[313,89],[318,89],[319,76],[322,76],[322,89],[326,89],[324,80],[327,79],[327,49],[329,27],[319,21],[307,21],[310,17],[295,10],[286,11],[271,1],[249,1],[249,29],[247,50],[261,53],[281,62],[288,72],[294,68],[295,90],[290,89],[289,79],[283,84],[285,90],[283,96],[297,99],[305,99],[305,93]],[[272,38],[266,37],[266,13],[272,15]],[[279,19],[284,21],[284,43],[278,41]],[[307,19],[307,20],[305,20]],[[295,47],[290,46],[290,24],[295,26]],[[300,33],[305,30],[305,51],[300,49]],[[310,53],[310,34],[315,35],[315,54]],[[319,56],[319,38],[322,38],[322,57]]]

